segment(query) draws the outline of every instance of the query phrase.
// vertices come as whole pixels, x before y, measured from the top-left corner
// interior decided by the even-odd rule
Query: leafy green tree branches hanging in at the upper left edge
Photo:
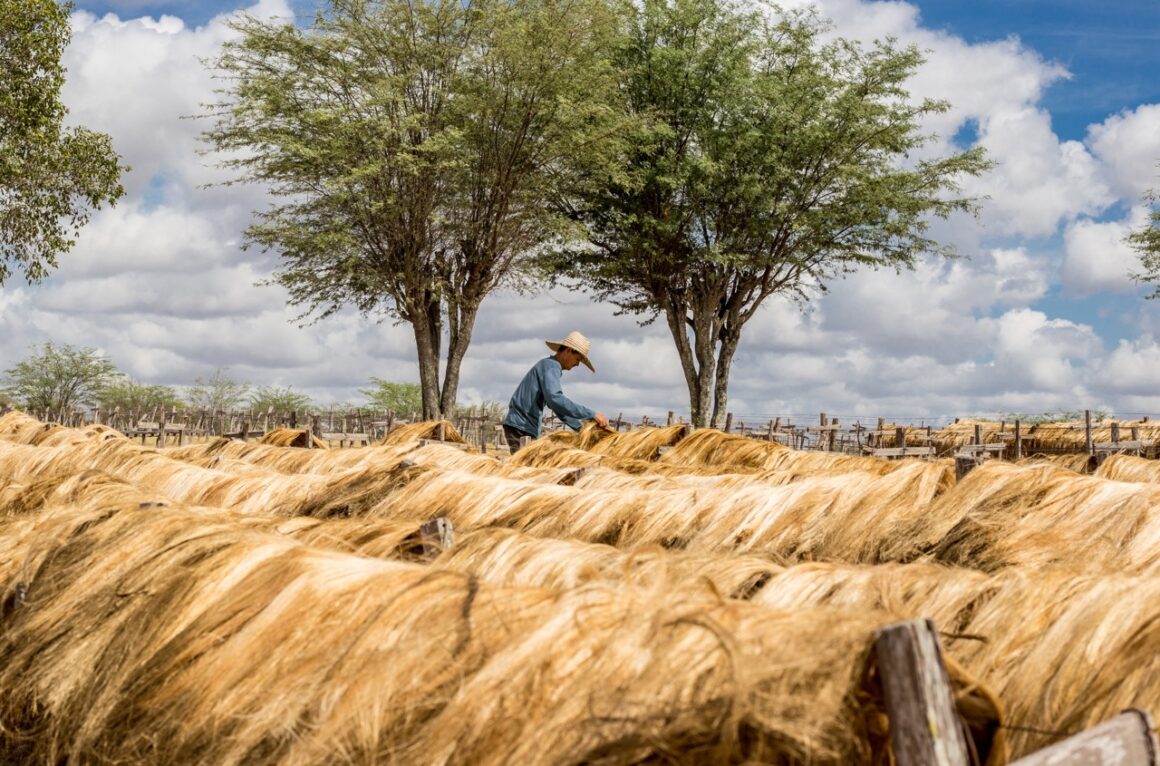
[[[123,168],[108,136],[63,127],[71,5],[0,0],[0,284],[38,282],[92,210],[114,204]]]

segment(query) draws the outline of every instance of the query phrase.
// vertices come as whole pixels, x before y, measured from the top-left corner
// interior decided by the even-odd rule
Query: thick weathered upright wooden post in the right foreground
[[[887,626],[875,636],[890,742],[898,766],[967,766],[966,737],[930,620]]]

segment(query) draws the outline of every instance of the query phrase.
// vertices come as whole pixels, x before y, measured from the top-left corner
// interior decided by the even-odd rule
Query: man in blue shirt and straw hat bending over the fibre
[[[523,436],[539,436],[539,420],[545,406],[573,431],[580,429],[581,420],[595,420],[602,428],[608,427],[608,418],[567,398],[560,388],[560,374],[581,362],[593,373],[596,371],[588,359],[588,339],[572,331],[564,340],[544,342],[556,353],[539,360],[528,370],[512,395],[508,414],[503,418],[503,435],[513,455],[520,449]]]

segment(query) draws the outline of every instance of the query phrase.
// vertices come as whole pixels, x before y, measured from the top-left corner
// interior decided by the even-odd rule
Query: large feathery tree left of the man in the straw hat
[[[616,16],[603,0],[332,0],[307,29],[237,29],[204,138],[276,198],[247,245],[281,255],[300,319],[349,305],[409,324],[422,414],[452,412],[480,303],[566,226],[546,201],[612,157]]]

